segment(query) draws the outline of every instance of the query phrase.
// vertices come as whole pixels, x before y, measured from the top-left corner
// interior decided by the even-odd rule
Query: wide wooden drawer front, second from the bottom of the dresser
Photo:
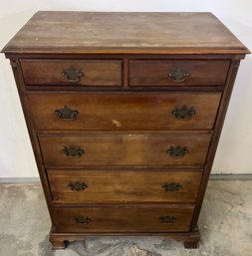
[[[201,171],[48,169],[57,203],[195,202]]]

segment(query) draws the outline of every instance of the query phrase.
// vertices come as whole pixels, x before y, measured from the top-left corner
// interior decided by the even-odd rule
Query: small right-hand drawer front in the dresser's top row
[[[224,85],[229,61],[130,61],[129,86]]]

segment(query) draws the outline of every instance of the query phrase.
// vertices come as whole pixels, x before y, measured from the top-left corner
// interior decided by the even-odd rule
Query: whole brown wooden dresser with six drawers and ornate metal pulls
[[[197,247],[200,207],[247,48],[210,13],[38,12],[2,52],[53,248],[98,234],[161,235]]]

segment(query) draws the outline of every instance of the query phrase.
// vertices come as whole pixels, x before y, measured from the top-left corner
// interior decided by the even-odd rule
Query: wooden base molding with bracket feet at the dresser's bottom
[[[186,233],[57,233],[50,232],[49,241],[54,250],[62,250],[69,242],[85,240],[88,236],[162,236],[167,240],[183,241],[184,248],[196,249],[200,241],[198,231]]]

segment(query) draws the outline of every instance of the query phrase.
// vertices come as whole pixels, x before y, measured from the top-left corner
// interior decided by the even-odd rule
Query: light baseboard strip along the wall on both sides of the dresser
[[[251,174],[211,174],[211,180],[252,180]],[[40,183],[39,177],[0,177],[0,184]]]

